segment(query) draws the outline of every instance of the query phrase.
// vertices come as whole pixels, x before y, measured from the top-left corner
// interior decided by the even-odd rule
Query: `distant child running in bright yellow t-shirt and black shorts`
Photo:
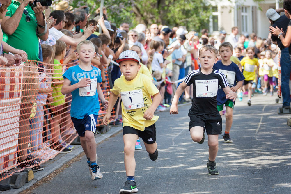
[[[244,67],[244,88],[248,89],[248,105],[251,106],[251,96],[253,93],[252,84],[256,74],[258,74],[258,59],[254,58],[255,47],[248,47],[246,49],[246,57],[241,60],[241,65]],[[257,67],[256,67],[257,66]]]

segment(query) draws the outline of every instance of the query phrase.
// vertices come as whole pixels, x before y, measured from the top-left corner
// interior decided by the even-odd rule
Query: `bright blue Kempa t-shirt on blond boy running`
[[[71,85],[78,83],[83,78],[91,79],[90,86],[72,91],[71,117],[83,119],[86,114],[98,115],[100,105],[96,87],[102,82],[101,71],[92,65],[91,67],[91,71],[84,71],[79,65],[76,65],[70,67],[63,74],[63,78],[70,80]]]

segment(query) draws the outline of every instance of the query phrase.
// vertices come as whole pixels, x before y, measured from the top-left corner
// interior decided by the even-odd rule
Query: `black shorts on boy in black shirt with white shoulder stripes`
[[[192,127],[205,127],[207,135],[218,135],[222,131],[222,118],[219,112],[211,114],[194,114],[189,111],[189,131]]]

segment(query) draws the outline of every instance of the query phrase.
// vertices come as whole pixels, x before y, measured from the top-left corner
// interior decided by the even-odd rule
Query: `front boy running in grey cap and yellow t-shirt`
[[[139,137],[143,139],[150,159],[155,161],[158,157],[155,122],[159,117],[154,116],[154,112],[162,97],[152,80],[139,73],[141,65],[135,51],[122,52],[116,62],[120,64],[123,76],[115,80],[114,87],[110,90],[108,110],[103,118],[103,124],[107,125],[112,108],[121,95],[124,165],[127,181],[119,193],[135,193],[138,192],[134,180],[136,140]]]

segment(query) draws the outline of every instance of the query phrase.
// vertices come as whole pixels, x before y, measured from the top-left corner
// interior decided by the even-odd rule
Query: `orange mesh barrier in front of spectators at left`
[[[0,180],[54,158],[77,137],[70,118],[72,95],[61,94],[62,75],[76,64],[28,60],[0,67]],[[108,100],[107,76],[100,86]],[[101,108],[97,126],[105,113]]]

